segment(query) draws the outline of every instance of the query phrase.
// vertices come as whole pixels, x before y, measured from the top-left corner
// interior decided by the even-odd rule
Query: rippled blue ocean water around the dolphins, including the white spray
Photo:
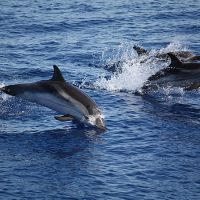
[[[199,0],[1,0],[0,85],[48,79],[57,64],[108,131],[1,94],[0,199],[199,200],[200,93],[134,95],[161,66],[132,49],[198,54],[199,19]],[[122,74],[102,67],[118,60]]]

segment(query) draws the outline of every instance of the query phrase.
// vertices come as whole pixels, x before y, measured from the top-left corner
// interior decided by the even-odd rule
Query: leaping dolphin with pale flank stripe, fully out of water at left
[[[57,120],[77,120],[105,130],[105,122],[97,104],[79,88],[66,82],[56,65],[53,68],[50,80],[8,85],[0,90],[61,113],[62,116],[55,117]]]

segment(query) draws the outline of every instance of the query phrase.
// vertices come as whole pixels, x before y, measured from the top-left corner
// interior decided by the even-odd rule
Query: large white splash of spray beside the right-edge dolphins
[[[170,43],[165,48],[160,50],[152,49],[149,53],[150,56],[140,56],[133,50],[133,45],[123,44],[115,51],[111,51],[112,54],[107,57],[105,52],[102,53],[102,59],[106,63],[112,63],[116,61],[122,61],[121,72],[113,73],[109,78],[100,76],[95,82],[95,86],[100,89],[106,89],[108,91],[130,91],[134,92],[139,90],[145,81],[160,69],[168,66],[168,62],[161,62],[156,57],[153,57],[156,53],[167,53],[169,51],[183,51],[188,50],[183,47],[180,42]],[[115,53],[115,54],[113,54]]]

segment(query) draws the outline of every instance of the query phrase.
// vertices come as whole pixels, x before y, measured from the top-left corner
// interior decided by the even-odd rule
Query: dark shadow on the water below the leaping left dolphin
[[[1,132],[0,132],[1,133]],[[89,153],[88,148],[100,139],[91,128],[45,130],[35,133],[1,133],[0,148],[7,156],[26,159],[65,159]]]

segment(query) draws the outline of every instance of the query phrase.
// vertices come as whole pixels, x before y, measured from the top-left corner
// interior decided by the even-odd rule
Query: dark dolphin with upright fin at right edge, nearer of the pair
[[[142,87],[142,93],[159,86],[182,87],[185,90],[200,88],[200,63],[184,63],[168,53],[171,64],[150,76]]]

